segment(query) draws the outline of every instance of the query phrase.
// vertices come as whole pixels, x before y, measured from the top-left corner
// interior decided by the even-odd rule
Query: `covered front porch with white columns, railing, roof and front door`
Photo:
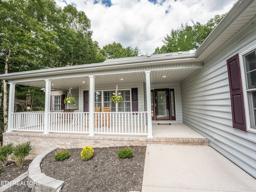
[[[7,132],[153,138],[154,121],[171,124],[183,122],[180,82],[202,66],[203,63],[192,50],[4,74],[2,78],[10,84]],[[16,84],[44,90],[45,110],[14,112]],[[124,97],[122,104],[110,101],[117,85]],[[59,108],[55,108],[58,103],[52,105],[55,102],[52,90],[66,91],[64,96],[68,95],[68,90],[72,90],[76,105],[64,105],[64,109],[70,112],[63,111],[62,104]],[[110,107],[111,110],[96,112],[96,107]]]

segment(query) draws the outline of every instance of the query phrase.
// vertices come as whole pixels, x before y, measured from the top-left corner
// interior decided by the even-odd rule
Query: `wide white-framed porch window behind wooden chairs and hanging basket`
[[[130,112],[131,111],[131,94],[130,90],[121,90],[119,91],[124,98],[122,104],[118,104],[118,112]],[[103,93],[103,98],[102,98]],[[115,90],[111,91],[96,91],[95,92],[95,107],[104,106],[108,107],[111,106],[111,112],[116,112],[116,104],[111,102],[111,97],[115,93]],[[102,107],[100,108],[101,111]]]

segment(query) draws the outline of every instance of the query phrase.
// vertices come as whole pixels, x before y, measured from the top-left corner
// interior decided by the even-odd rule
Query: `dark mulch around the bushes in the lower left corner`
[[[32,160],[25,160],[24,165],[22,168],[18,168],[16,163],[14,161],[8,161],[6,166],[2,168],[2,173],[0,174],[0,181],[6,183],[10,182],[11,180],[14,180],[16,177],[20,176],[24,172],[28,170],[29,164],[32,162]],[[27,181],[28,178],[26,177],[22,182]],[[4,184],[2,183],[2,184]],[[2,184],[0,186],[2,186]],[[31,188],[28,188],[27,185],[14,185],[10,187],[8,190],[5,190],[4,192],[31,192]]]

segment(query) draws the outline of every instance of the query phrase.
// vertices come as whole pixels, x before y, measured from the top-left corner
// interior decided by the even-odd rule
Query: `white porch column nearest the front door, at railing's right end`
[[[151,119],[150,71],[145,71],[145,73],[146,73],[146,96],[147,96],[147,114],[148,114],[148,138],[153,138],[152,119]]]

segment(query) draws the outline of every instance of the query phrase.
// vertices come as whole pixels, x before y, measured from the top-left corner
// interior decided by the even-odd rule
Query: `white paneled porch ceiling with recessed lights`
[[[151,84],[168,84],[182,82],[185,78],[195,73],[198,69],[180,69],[180,70],[157,70],[150,72]],[[164,77],[165,76],[165,77]],[[122,80],[121,80],[122,79]],[[52,80],[52,89],[68,90],[70,87],[73,90],[78,90],[79,86],[89,86],[90,79],[88,76],[72,77],[72,78],[58,78]],[[120,73],[120,74],[106,74],[95,76],[95,86],[109,85],[109,84],[132,84],[146,82],[145,72],[134,73]],[[34,87],[45,87],[44,80],[20,82],[17,84]]]

